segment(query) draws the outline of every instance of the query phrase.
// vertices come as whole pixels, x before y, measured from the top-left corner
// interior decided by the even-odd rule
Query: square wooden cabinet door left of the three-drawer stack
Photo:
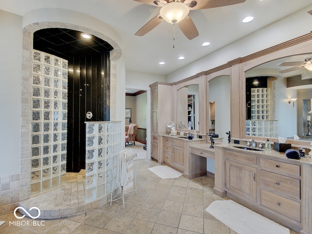
[[[256,202],[256,168],[226,160],[226,188]]]

